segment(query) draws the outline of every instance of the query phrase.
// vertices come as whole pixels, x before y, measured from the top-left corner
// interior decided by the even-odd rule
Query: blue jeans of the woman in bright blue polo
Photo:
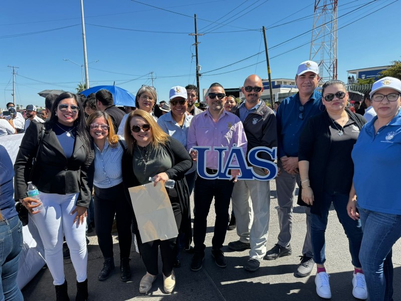
[[[358,208],[363,236],[359,252],[369,300],[392,300],[393,244],[401,237],[401,215]]]

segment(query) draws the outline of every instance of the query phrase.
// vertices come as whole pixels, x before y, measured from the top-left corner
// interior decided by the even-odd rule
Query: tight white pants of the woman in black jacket
[[[32,214],[32,220],[38,227],[39,234],[45,247],[45,259],[53,276],[53,284],[64,283],[63,265],[63,235],[70,248],[71,261],[77,274],[77,281],[87,278],[86,266],[88,250],[86,247],[86,221],[83,225],[74,223],[71,212],[75,208],[78,193],[67,195],[40,192],[44,210]]]

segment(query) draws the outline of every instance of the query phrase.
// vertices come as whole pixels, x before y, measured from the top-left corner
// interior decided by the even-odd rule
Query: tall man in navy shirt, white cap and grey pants
[[[277,110],[278,167],[281,174],[276,178],[277,200],[279,208],[280,233],[278,241],[267,251],[265,259],[273,260],[292,254],[291,230],[292,209],[294,206],[295,184],[301,187],[298,170],[299,136],[307,120],[320,112],[322,94],[315,91],[318,81],[318,65],[312,61],[302,62],[298,66],[295,83],[298,93],[284,99]],[[322,108],[323,110],[323,108]],[[310,208],[305,207],[306,237],[302,248],[301,263],[296,274],[306,277],[313,269],[313,251],[310,238]]]

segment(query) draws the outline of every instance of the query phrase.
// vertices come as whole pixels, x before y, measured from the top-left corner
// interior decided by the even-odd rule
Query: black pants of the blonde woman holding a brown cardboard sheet
[[[179,205],[178,199],[171,200],[172,211],[174,213],[175,223],[177,224],[177,229],[181,224],[181,207]],[[146,266],[146,271],[149,274],[157,275],[159,273],[157,255],[158,249],[160,247],[161,262],[163,263],[162,271],[164,276],[168,277],[172,273],[172,267],[176,256],[176,244],[177,238],[170,238],[167,240],[152,240],[149,242],[139,244],[139,250],[141,252],[141,257],[143,263]]]

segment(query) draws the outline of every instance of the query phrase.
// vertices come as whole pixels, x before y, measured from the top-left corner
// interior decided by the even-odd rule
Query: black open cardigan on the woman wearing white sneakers
[[[354,114],[347,108],[345,109],[350,119],[352,119],[359,129],[366,123],[366,119],[359,114]],[[324,175],[326,173],[326,162],[329,159],[328,155],[331,146],[330,134],[330,117],[327,111],[319,113],[308,119],[301,136],[299,137],[298,160],[309,161],[309,180],[312,188],[315,201],[313,206],[307,205],[302,201],[302,188],[298,192],[298,205],[311,207],[311,213],[320,215],[320,202],[323,198],[324,191]],[[349,154],[351,156],[351,154]],[[339,163],[340,164],[340,163]],[[354,172],[354,167],[347,166],[350,179]],[[351,188],[350,183],[344,183],[344,186]]]

